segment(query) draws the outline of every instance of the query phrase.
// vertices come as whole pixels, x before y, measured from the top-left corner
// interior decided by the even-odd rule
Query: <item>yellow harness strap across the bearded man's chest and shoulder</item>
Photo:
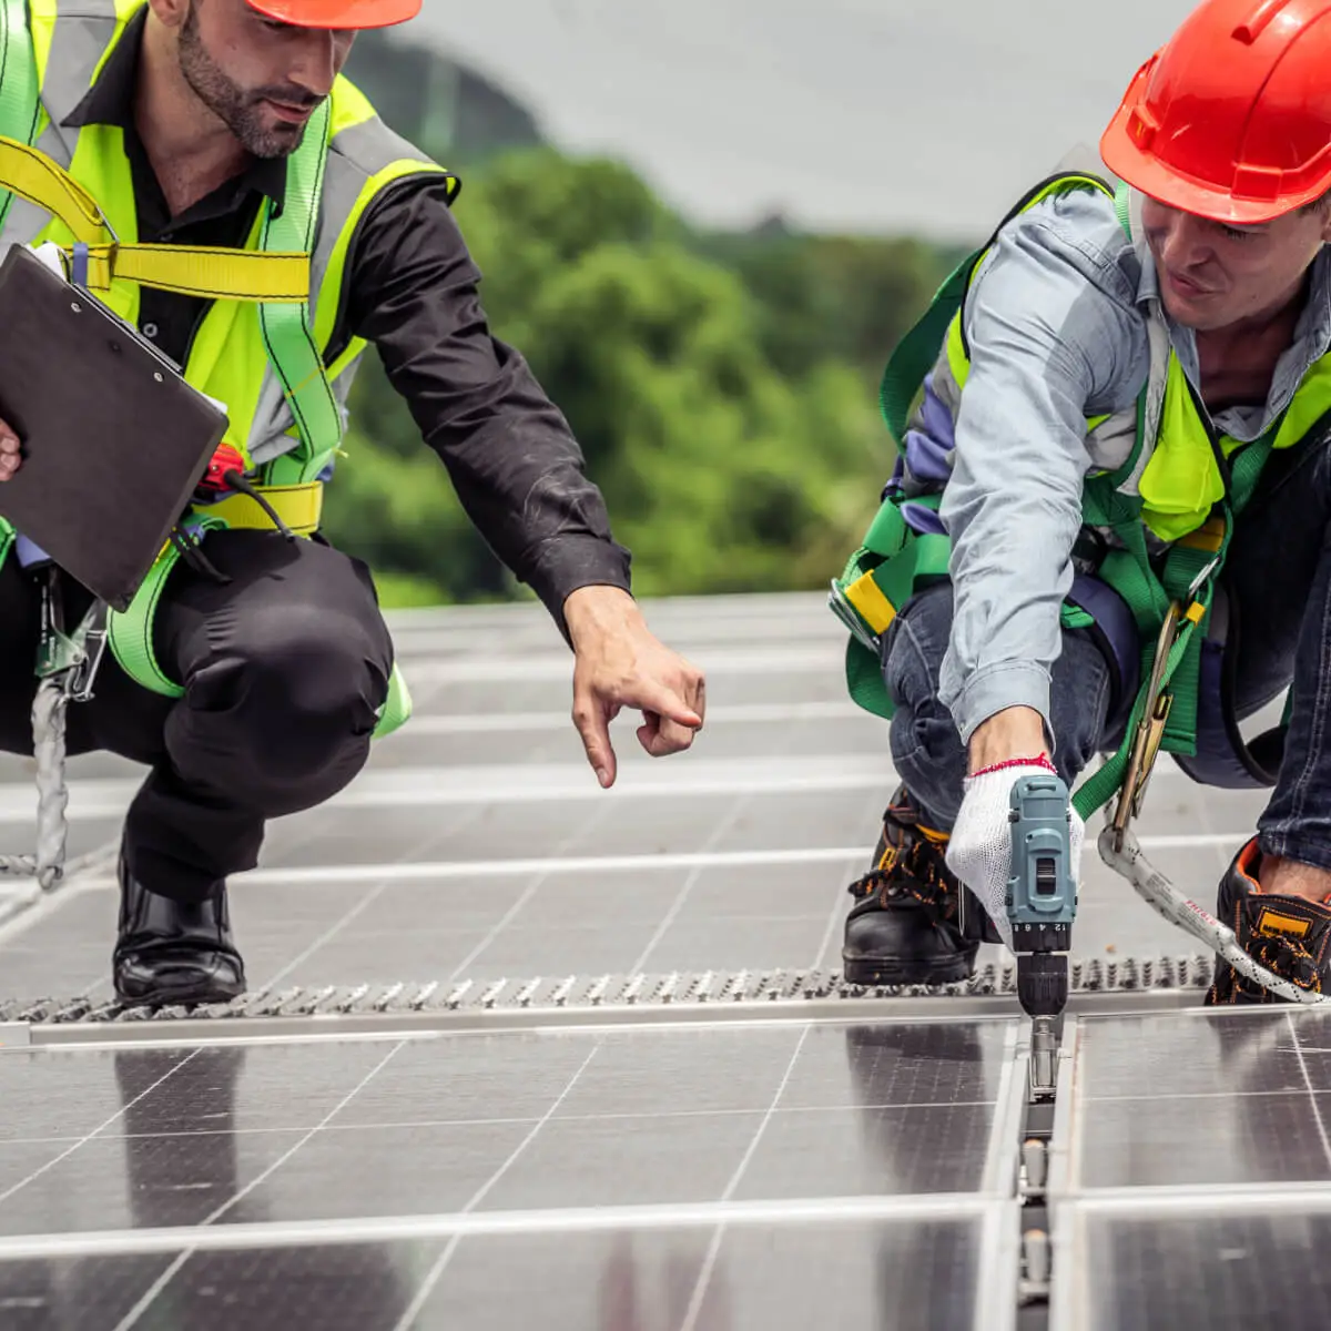
[[[297,303],[310,294],[307,254],[253,253],[189,245],[121,245],[97,201],[45,153],[0,137],[0,188],[12,190],[89,246],[88,286],[114,278],[206,299]],[[73,252],[61,249],[67,273]]]

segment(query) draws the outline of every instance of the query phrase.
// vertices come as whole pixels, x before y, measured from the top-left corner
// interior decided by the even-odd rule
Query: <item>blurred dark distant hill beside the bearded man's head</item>
[[[450,166],[546,142],[536,117],[516,98],[391,31],[361,33],[346,75],[389,125]]]

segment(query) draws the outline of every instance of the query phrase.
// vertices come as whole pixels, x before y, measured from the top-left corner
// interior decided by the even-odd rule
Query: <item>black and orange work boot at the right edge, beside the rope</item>
[[[1300,989],[1323,993],[1331,989],[1331,896],[1326,901],[1276,897],[1262,890],[1254,877],[1260,862],[1256,837],[1248,841],[1221,880],[1215,914],[1227,924],[1239,946],[1272,976]],[[1287,1002],[1240,976],[1223,957],[1215,958],[1215,977],[1206,1006],[1222,1004]]]

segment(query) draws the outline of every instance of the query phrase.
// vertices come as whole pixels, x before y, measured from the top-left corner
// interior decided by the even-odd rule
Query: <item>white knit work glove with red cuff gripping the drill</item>
[[[1013,763],[968,776],[961,812],[948,841],[948,868],[976,894],[1012,949],[1008,878],[1012,876],[1012,788],[1024,776],[1047,776],[1044,763]],[[1075,809],[1069,825],[1073,881],[1081,878],[1086,824]]]

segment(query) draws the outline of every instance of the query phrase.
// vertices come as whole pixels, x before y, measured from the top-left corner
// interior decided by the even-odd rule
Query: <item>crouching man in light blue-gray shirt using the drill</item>
[[[1229,626],[1225,651],[1199,667],[1202,691],[1227,708],[1222,735],[1233,741],[1234,717],[1291,689],[1283,756],[1278,745],[1255,776],[1242,741],[1207,765],[1202,703],[1195,753],[1178,752],[1198,780],[1275,785],[1218,914],[1276,974],[1316,990],[1328,976],[1324,9],[1206,0],[1142,67],[1102,138],[1126,182],[1117,197],[1082,180],[1028,200],[969,274],[885,492],[910,539],[942,534],[950,555],[945,578],[916,579],[900,604],[873,592],[880,715],[902,784],[870,872],[851,886],[853,982],[953,982],[981,940],[1010,944],[1014,780],[1057,771],[1071,787],[1134,733],[1158,620],[1110,590],[1126,550],[1087,508],[1093,478],[1135,506],[1142,559],[1166,584],[1181,548],[1203,551],[1203,574],[1222,556],[1210,614],[1195,607],[1199,644],[1222,615]],[[1083,833],[1074,812],[1074,865]],[[1271,998],[1218,962],[1210,1002]]]

